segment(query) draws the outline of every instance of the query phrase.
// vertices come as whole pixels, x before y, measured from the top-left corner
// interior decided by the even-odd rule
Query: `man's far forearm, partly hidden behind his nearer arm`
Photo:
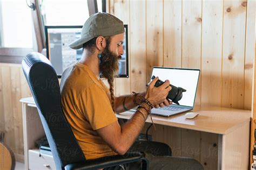
[[[136,103],[138,103],[139,102],[138,98],[141,95],[145,95],[145,92],[139,93],[137,96],[135,96],[135,95],[123,95],[123,96],[116,97],[115,98],[115,103],[114,103],[115,104],[115,111],[117,113],[120,113],[120,112],[130,110],[134,107],[137,107],[138,105],[134,104],[134,97],[136,97],[135,101],[136,101]],[[140,103],[138,103],[138,104],[140,104]]]

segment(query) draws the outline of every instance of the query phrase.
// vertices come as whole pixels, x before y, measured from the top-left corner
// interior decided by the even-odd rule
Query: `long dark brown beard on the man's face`
[[[100,72],[104,78],[113,81],[114,76],[118,75],[119,59],[121,59],[121,56],[111,52],[107,45],[102,52],[99,64]]]

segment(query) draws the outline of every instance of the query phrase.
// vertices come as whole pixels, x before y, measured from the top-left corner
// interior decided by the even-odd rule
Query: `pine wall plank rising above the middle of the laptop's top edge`
[[[181,6],[164,0],[164,67],[181,67]]]

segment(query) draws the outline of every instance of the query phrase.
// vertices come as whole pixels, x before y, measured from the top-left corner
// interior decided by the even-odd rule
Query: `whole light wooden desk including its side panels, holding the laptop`
[[[21,102],[25,167],[28,169],[28,151],[35,147],[33,143],[44,131],[35,114],[33,98],[22,98]],[[153,139],[169,144],[174,156],[199,160],[205,169],[248,169],[251,111],[215,107],[198,107],[193,111],[199,114],[194,119],[185,119],[185,114],[152,116],[157,125],[157,131],[151,128]],[[126,111],[117,117],[130,119],[132,114]],[[151,123],[150,117],[146,122]],[[149,124],[145,129],[147,126]]]

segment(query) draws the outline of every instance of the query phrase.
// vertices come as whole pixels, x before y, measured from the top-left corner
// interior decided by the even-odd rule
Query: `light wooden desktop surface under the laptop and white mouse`
[[[239,110],[217,107],[197,107],[193,112],[199,114],[193,119],[186,119],[185,113],[170,117],[152,115],[153,122],[160,125],[173,126],[203,132],[228,134],[251,121],[250,110]],[[133,111],[116,114],[118,118],[130,119]],[[151,123],[150,116],[146,122]]]

